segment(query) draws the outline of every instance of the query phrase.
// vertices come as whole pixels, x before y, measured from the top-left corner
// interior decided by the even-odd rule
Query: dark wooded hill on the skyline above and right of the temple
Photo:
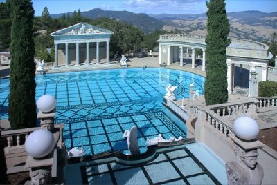
[[[69,14],[73,14],[70,12]],[[128,11],[106,11],[99,8],[89,10],[87,12],[81,12],[83,17],[90,19],[96,19],[98,17],[108,17],[116,19],[118,21],[124,21],[132,23],[134,26],[141,28],[145,33],[154,32],[154,30],[161,30],[163,28],[163,22],[148,16],[147,14],[134,14]],[[62,14],[52,14],[51,17],[57,18]]]

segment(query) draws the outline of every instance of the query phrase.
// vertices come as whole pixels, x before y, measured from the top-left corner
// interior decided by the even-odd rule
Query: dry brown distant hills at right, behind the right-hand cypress
[[[206,35],[204,14],[149,14],[163,22],[163,30],[177,28],[186,34]],[[270,41],[277,29],[277,12],[259,11],[229,12],[230,36],[256,41]]]

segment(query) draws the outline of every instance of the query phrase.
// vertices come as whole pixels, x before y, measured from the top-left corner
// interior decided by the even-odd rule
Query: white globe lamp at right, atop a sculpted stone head
[[[233,122],[233,130],[235,135],[240,139],[251,141],[256,139],[259,134],[260,128],[258,123],[248,116],[242,116],[235,119]]]

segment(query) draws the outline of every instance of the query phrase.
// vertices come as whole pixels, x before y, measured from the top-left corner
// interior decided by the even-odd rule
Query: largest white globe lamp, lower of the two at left
[[[33,131],[25,141],[26,152],[35,158],[45,157],[54,147],[55,137],[50,131],[44,129]]]

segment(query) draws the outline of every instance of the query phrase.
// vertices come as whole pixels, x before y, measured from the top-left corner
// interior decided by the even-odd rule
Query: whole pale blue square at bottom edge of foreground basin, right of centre
[[[145,166],[145,170],[147,171],[153,183],[159,183],[180,177],[180,175],[177,173],[177,171],[175,171],[175,168],[170,164],[170,162],[151,164],[149,166]]]

